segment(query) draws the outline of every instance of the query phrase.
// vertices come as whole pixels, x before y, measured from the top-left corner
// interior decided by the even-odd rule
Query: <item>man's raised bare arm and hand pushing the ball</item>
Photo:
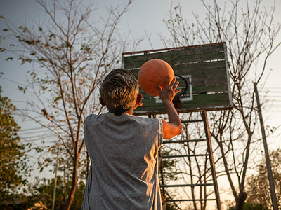
[[[171,80],[171,83],[169,84],[169,76],[166,78],[166,85],[163,90],[159,85],[157,85],[160,99],[166,107],[169,118],[169,123],[165,120],[162,120],[164,139],[171,139],[172,137],[181,134],[182,130],[181,119],[178,116],[178,112],[176,111],[173,104],[175,95],[181,91],[176,90],[176,87],[178,87],[178,81],[176,81],[176,78],[173,78],[173,80]]]

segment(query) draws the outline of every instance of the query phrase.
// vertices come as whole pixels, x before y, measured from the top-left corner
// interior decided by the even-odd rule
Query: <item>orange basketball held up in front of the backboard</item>
[[[155,85],[159,85],[164,89],[166,85],[166,77],[170,76],[169,82],[175,77],[174,70],[162,59],[150,59],[141,66],[138,71],[138,84],[144,92],[151,96],[159,96],[159,92]]]

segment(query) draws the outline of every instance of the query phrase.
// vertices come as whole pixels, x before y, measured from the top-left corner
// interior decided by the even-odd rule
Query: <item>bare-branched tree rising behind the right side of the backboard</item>
[[[194,14],[195,23],[185,20],[181,7],[171,9],[166,27],[171,34],[168,40],[162,38],[168,47],[180,47],[204,43],[226,42],[228,69],[233,96],[233,109],[230,111],[211,112],[211,137],[215,140],[223,169],[230,183],[236,208],[242,209],[247,197],[245,180],[249,160],[254,158],[254,146],[260,143],[256,134],[258,118],[254,107],[254,87],[252,80],[261,81],[268,57],[280,46],[276,41],[280,24],[273,24],[275,1],[270,10],[262,7],[262,1],[228,1],[228,6],[220,8],[217,1],[214,6],[202,1],[206,15]],[[252,5],[252,6],[251,6]],[[242,8],[240,10],[239,8]],[[262,69],[254,71],[256,62],[261,62]],[[253,76],[254,79],[253,79]],[[217,165],[218,168],[218,165]]]

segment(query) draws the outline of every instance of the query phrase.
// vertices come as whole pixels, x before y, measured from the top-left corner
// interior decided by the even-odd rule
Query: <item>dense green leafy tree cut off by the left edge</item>
[[[1,96],[0,86],[0,202],[27,182],[29,173],[25,145],[20,142],[13,113],[15,106],[8,97]]]

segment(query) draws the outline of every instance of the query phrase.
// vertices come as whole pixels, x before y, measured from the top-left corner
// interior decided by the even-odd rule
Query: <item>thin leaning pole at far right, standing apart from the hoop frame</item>
[[[256,83],[254,83],[254,91],[256,94],[256,104],[258,106],[259,121],[261,123],[261,134],[263,136],[264,153],[266,155],[266,167],[268,169],[268,180],[269,180],[269,188],[270,188],[270,194],[271,194],[271,202],[273,203],[273,210],[277,210],[278,209],[277,208],[277,197],[275,194],[273,173],[271,171],[271,164],[270,164],[270,158],[269,158],[269,153],[268,153],[268,144],[266,142],[266,132],[265,132],[264,126],[263,126],[263,116],[261,115],[261,104],[259,103],[259,93],[258,93],[258,89],[256,88]]]

